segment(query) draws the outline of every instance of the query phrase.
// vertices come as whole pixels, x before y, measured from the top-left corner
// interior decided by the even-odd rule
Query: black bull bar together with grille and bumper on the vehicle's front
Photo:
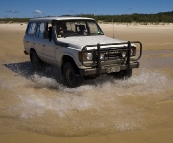
[[[140,53],[139,56],[136,59],[132,59],[131,58],[131,43],[138,43],[140,46]],[[115,45],[115,47],[110,47],[107,49],[102,49],[101,46],[110,46],[110,45]],[[117,46],[120,47],[117,47]],[[127,46],[123,46],[122,45],[127,45]],[[92,49],[92,50],[87,50],[87,47],[96,47],[96,49]],[[119,53],[119,51],[123,51],[126,50],[127,54],[125,57],[121,57],[119,55],[117,55],[117,52]],[[141,55],[142,55],[142,43],[139,41],[133,41],[133,42],[124,42],[124,43],[109,43],[109,44],[97,44],[97,45],[87,45],[85,47],[83,47],[81,53],[85,53],[85,52],[90,52],[93,54],[93,63],[95,62],[95,65],[86,65],[83,61],[83,59],[81,58],[81,63],[83,66],[88,67],[86,69],[79,69],[79,72],[82,76],[88,76],[88,75],[99,75],[99,74],[104,74],[104,73],[110,73],[111,72],[120,72],[123,70],[127,70],[127,69],[132,69],[132,68],[138,68],[139,67],[139,62],[138,60],[140,59]],[[108,53],[108,61],[104,63],[106,63],[106,65],[104,65],[104,63],[101,60],[101,54],[103,54],[104,52]],[[112,54],[112,52],[114,52]],[[112,59],[112,56],[114,59]],[[112,63],[115,62],[114,64]],[[110,70],[111,69],[111,70]],[[115,70],[112,70],[115,69]]]

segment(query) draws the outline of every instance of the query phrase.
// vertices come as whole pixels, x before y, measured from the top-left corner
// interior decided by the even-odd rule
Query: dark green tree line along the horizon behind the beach
[[[123,14],[123,15],[94,15],[94,14],[77,14],[77,15],[63,15],[63,16],[82,16],[94,18],[102,22],[144,22],[144,23],[173,23],[173,11],[160,12],[157,14]],[[49,16],[50,17],[50,16]],[[1,18],[0,23],[24,23],[28,22],[30,18]]]

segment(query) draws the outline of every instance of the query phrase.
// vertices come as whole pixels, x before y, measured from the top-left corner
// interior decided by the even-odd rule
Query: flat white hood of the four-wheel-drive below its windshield
[[[68,43],[70,47],[76,49],[82,49],[86,45],[96,45],[96,44],[108,44],[108,43],[122,43],[127,41],[122,41],[119,39],[109,38],[105,35],[97,36],[76,36],[76,37],[66,37],[58,38],[58,41]],[[124,45],[122,45],[124,46]]]

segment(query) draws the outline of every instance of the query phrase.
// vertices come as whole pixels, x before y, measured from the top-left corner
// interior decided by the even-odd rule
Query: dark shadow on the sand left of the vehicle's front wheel
[[[43,71],[41,72],[35,72],[31,62],[21,62],[21,63],[10,63],[10,64],[4,64],[6,68],[9,70],[15,72],[16,74],[23,76],[27,79],[32,80],[32,76],[34,74],[39,75],[40,77],[47,77],[55,79],[59,84],[63,84],[62,81],[62,75],[61,75],[61,69],[56,66],[47,66]]]

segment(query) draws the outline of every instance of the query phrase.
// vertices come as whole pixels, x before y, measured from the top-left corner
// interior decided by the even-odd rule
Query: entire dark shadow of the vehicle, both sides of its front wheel
[[[64,85],[61,69],[56,66],[49,65],[42,72],[35,72],[30,61],[21,62],[21,63],[4,64],[4,66],[8,68],[9,70],[15,72],[16,74],[22,77],[25,77],[26,79],[31,81],[34,81],[33,80],[34,75],[38,75],[39,77],[54,79],[57,82],[57,84],[61,86]],[[99,83],[102,84],[107,81],[111,82],[111,79],[112,79],[112,76],[101,75],[96,78],[85,79],[82,85],[96,86]]]

